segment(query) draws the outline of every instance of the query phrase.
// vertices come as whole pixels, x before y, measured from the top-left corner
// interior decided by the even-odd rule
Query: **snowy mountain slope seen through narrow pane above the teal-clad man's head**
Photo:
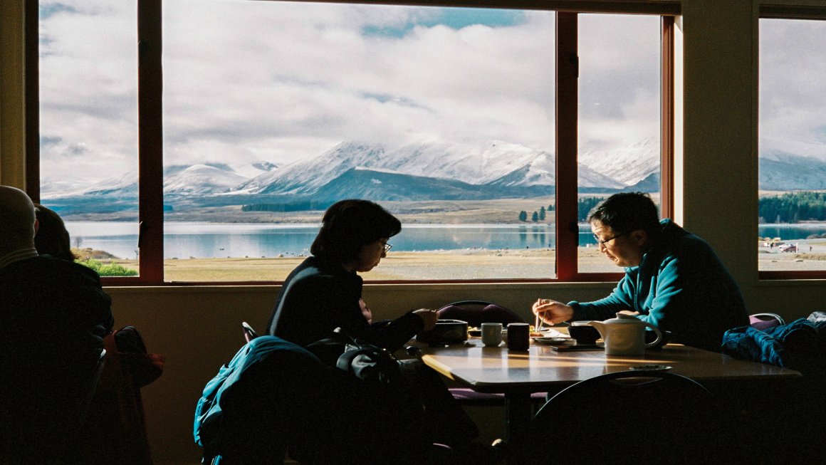
[[[619,148],[602,150],[582,146],[579,163],[596,173],[630,186],[642,181],[660,167],[660,145],[657,140],[643,139]]]

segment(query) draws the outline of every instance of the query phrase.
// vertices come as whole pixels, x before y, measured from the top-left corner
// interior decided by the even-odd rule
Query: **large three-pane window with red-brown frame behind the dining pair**
[[[599,278],[582,215],[659,198],[658,15],[67,5],[40,1],[40,199],[120,282],[281,280],[351,197],[404,225],[367,279]]]

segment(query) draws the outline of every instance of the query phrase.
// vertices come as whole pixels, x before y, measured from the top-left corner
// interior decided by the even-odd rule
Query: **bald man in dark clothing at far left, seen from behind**
[[[68,434],[112,330],[97,273],[40,256],[35,206],[0,186],[0,462],[71,462]]]

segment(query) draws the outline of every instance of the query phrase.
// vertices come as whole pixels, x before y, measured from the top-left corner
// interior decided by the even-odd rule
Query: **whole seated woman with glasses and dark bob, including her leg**
[[[336,202],[325,212],[310,249],[312,256],[290,273],[278,293],[268,333],[306,346],[341,328],[348,335],[390,351],[436,324],[435,311],[409,311],[392,321],[373,321],[361,298],[362,278],[387,256],[401,222],[366,200]],[[458,406],[439,376],[419,360],[406,360],[402,372],[425,406],[433,442],[467,453],[479,430]]]

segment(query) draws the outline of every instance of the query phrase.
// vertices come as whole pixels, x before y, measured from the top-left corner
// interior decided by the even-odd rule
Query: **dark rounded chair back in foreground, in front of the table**
[[[723,418],[688,377],[608,373],[553,396],[507,444],[508,463],[718,463]]]

